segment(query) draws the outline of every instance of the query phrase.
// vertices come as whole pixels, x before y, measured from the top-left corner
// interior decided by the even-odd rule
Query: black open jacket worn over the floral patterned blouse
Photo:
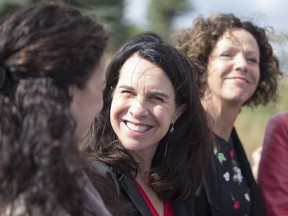
[[[235,129],[233,129],[231,136],[242,175],[246,179],[248,187],[251,190],[252,206],[250,216],[265,216],[267,214],[262,195],[253,177],[250,163]],[[220,190],[221,185],[217,182],[216,169],[214,164],[212,164],[205,173],[203,184],[199,188],[197,196],[194,197],[195,215],[221,216],[221,209],[217,196]]]

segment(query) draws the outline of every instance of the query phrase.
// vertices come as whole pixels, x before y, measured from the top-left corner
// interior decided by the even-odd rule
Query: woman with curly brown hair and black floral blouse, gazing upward
[[[267,31],[233,14],[199,17],[173,39],[202,64],[197,88],[210,117],[214,159],[195,196],[196,214],[266,215],[234,123],[243,106],[277,99],[278,59]]]

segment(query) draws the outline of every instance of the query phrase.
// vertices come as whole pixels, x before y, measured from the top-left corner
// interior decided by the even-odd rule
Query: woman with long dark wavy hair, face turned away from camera
[[[102,108],[106,44],[100,23],[64,4],[0,27],[0,215],[117,215],[77,146]]]

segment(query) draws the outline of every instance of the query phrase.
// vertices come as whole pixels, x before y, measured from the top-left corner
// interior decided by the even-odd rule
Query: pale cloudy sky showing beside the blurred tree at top
[[[140,27],[147,24],[146,6],[148,0],[126,0],[126,18]],[[167,1],[167,0],[163,0]],[[234,13],[236,16],[249,19],[265,27],[288,32],[288,6],[286,0],[189,0],[194,10],[174,22],[175,28],[192,25],[195,17],[207,17],[218,12]]]

